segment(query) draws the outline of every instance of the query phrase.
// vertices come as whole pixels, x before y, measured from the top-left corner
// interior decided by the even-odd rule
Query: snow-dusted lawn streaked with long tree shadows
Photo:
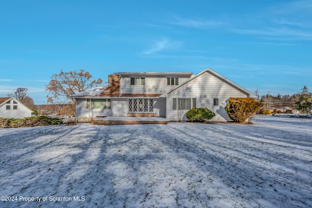
[[[0,129],[0,207],[312,207],[312,119],[253,122]]]

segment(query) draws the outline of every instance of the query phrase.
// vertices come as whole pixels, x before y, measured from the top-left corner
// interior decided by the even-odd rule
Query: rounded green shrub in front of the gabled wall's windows
[[[205,122],[213,118],[215,113],[205,107],[194,107],[186,113],[190,122]]]

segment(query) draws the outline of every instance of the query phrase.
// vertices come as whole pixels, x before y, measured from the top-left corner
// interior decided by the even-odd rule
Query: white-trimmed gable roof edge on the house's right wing
[[[208,72],[209,74],[215,76],[216,78],[220,79],[221,81],[223,81],[224,83],[227,83],[229,85],[231,85],[232,87],[236,88],[237,90],[243,92],[244,94],[248,95],[248,97],[251,98],[257,98],[256,95],[254,95],[253,93],[249,92],[248,90],[244,89],[243,87],[239,86],[238,84],[235,84],[234,82],[226,79],[225,77],[221,76],[220,74],[216,73],[215,71],[213,71],[210,68],[207,68],[205,70],[203,70],[202,72],[196,74],[195,76],[191,77],[189,80],[185,81],[184,83],[181,83],[179,85],[177,85],[175,88],[167,91],[166,93],[164,93],[163,95],[161,95],[161,97],[167,97],[167,94],[175,91],[176,89],[178,89],[179,87],[183,86],[186,83],[191,82],[192,80],[196,79],[197,77],[199,77],[200,75],[204,74],[205,72]]]

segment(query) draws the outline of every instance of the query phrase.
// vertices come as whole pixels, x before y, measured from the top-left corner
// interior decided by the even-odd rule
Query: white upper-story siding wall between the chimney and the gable
[[[130,78],[131,77],[144,77],[145,85],[131,85]],[[187,76],[168,76],[168,77],[176,77],[179,78],[179,83],[183,83],[188,80],[190,77]],[[122,94],[163,94],[168,90],[176,87],[176,85],[167,85],[167,77],[165,76],[123,76],[121,78],[121,93]]]

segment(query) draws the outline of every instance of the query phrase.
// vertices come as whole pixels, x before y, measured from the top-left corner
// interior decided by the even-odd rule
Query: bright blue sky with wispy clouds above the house
[[[209,67],[260,95],[312,91],[311,0],[6,0],[0,97],[28,88],[46,104],[52,74]]]

